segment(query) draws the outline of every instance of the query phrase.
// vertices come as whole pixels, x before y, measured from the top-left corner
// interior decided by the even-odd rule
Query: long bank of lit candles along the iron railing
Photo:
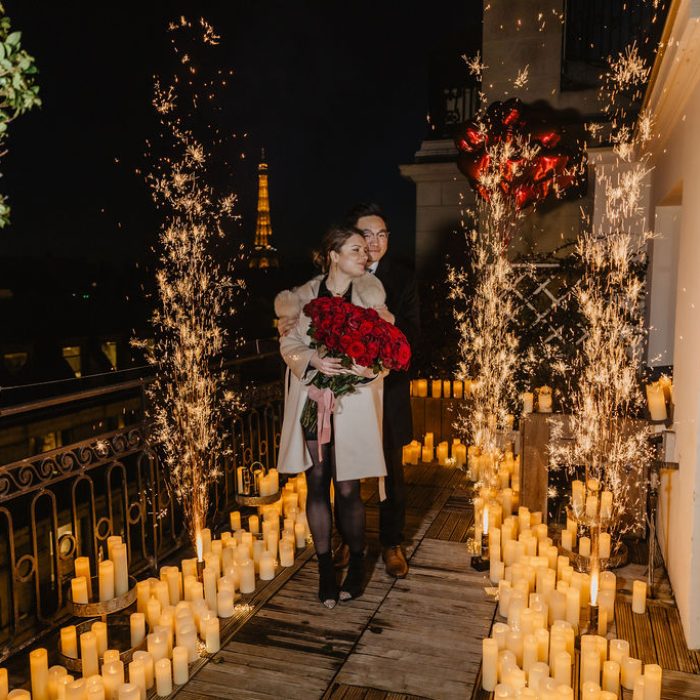
[[[109,648],[107,618],[96,620],[81,634],[69,625],[60,630],[60,649],[63,656],[80,659],[82,678],[64,666],[49,667],[47,649],[35,649],[29,654],[31,692],[10,691],[7,670],[0,669],[0,700],[144,700],[154,686],[157,696],[170,695],[174,685],[187,682],[189,664],[202,651],[219,651],[219,619],[235,614],[237,593],[253,593],[256,574],[261,581],[274,578],[278,558],[282,567],[294,564],[295,547],[305,547],[309,535],[306,493],[303,475],[289,479],[276,503],[249,516],[247,530],[242,528],[240,511],[233,511],[231,532],[212,539],[208,529],[201,530],[197,557],[182,560],[180,567],[161,567],[160,578],[137,582],[136,611],[128,617],[135,651],[128,665],[118,649]],[[99,565],[97,596],[90,588],[89,560],[75,560],[74,602],[107,602],[110,598],[103,594],[110,590],[110,581],[111,598],[121,595],[117,572],[125,545],[117,537],[110,537],[107,545],[109,559]],[[103,567],[105,563],[111,563],[113,570]],[[76,579],[81,579],[78,584]]]

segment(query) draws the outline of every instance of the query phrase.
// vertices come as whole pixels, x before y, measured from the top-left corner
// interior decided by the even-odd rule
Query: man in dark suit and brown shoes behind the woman
[[[369,271],[377,276],[386,290],[387,320],[403,331],[413,347],[420,333],[415,276],[410,269],[387,256],[389,230],[386,217],[377,204],[358,204],[348,212],[345,223],[354,226],[365,237],[369,249]],[[408,573],[408,562],[401,546],[406,522],[401,448],[413,439],[407,372],[390,372],[384,380],[383,423],[387,498],[379,504],[379,541],[387,573],[403,578]],[[348,555],[347,546],[342,545],[336,552],[336,566],[344,566]]]

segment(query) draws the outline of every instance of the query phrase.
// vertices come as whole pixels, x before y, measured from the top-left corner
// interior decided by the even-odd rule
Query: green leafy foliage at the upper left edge
[[[22,49],[21,32],[13,32],[0,2],[0,158],[7,153],[8,124],[20,114],[41,105],[34,58]],[[0,193],[0,228],[10,221],[10,207]]]

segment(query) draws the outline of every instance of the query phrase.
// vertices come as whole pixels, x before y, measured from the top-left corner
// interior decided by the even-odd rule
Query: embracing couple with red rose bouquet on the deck
[[[380,479],[380,541],[387,572],[397,577],[408,572],[401,547],[401,448],[412,439],[405,369],[419,332],[418,301],[412,273],[385,257],[388,247],[380,208],[358,205],[344,225],[324,236],[317,255],[322,274],[275,300],[280,351],[288,367],[278,468],[306,474],[318,596],[328,608],[363,590],[361,479]],[[342,537],[335,561],[333,510]],[[336,568],[346,566],[339,588]]]

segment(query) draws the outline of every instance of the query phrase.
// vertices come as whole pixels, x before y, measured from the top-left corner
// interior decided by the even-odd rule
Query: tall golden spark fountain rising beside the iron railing
[[[202,27],[201,43],[216,43],[213,28],[204,21]],[[194,28],[183,17],[169,29]],[[175,44],[173,48],[179,53]],[[204,143],[183,126],[178,107],[180,102],[185,108],[190,105],[179,94],[182,85],[177,76],[167,87],[155,81],[153,106],[173,155],[157,159],[147,177],[157,207],[165,212],[156,273],[160,303],[152,317],[152,350],[147,343],[135,344],[147,350],[158,368],[150,391],[152,437],[194,541],[205,527],[210,489],[227,454],[224,419],[242,408],[239,396],[226,388],[229,378],[221,370],[227,342],[222,322],[233,313],[239,287],[212,255],[213,241],[222,235],[236,199],[207,184],[211,158]],[[193,89],[194,106],[196,91],[187,85]]]

